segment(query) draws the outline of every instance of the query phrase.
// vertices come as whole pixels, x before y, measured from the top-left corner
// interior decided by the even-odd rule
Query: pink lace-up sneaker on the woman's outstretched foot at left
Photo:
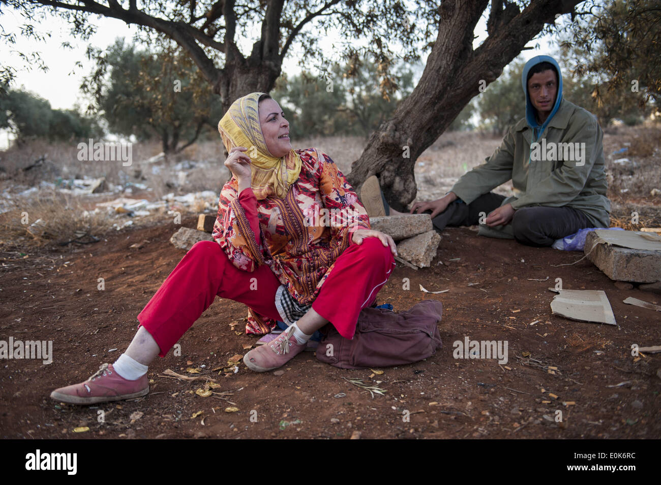
[[[135,381],[128,381],[115,372],[112,364],[103,364],[87,381],[60,387],[50,393],[50,397],[61,403],[95,404],[132,399],[148,393],[147,374]]]

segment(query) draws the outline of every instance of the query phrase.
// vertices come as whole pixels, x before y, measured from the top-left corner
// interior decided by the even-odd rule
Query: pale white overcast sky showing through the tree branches
[[[127,26],[121,20],[114,18],[99,18],[93,21],[97,24],[98,30],[90,42],[99,48],[110,46],[118,37],[125,37],[130,42],[136,32],[135,27]],[[88,74],[93,68],[92,63],[85,59],[87,44],[73,38],[69,34],[69,26],[59,16],[49,14],[48,22],[42,24],[40,27],[40,31],[42,32],[46,29],[52,32],[52,38],[46,43],[21,38],[19,27],[22,23],[22,17],[14,10],[6,7],[3,9],[3,14],[0,15],[0,25],[5,32],[17,32],[15,50],[24,53],[39,51],[44,63],[48,66],[48,72],[44,73],[39,69],[26,67],[24,61],[18,55],[9,52],[6,46],[3,45],[3,49],[0,51],[0,62],[4,65],[11,65],[19,71],[14,86],[24,86],[26,90],[39,94],[50,101],[53,108],[73,108],[76,102],[80,102],[84,106],[84,103],[81,102],[79,86],[82,77]],[[475,40],[475,46],[477,46],[486,37],[485,18],[477,25],[475,35],[478,36]],[[74,48],[63,49],[61,47],[63,40],[69,41]],[[320,44],[322,46],[331,46],[332,42],[338,42],[338,40],[337,37],[331,36],[330,42]],[[244,42],[243,44],[243,52],[249,53],[250,42]],[[534,47],[535,44],[540,44],[540,48],[525,50],[522,54],[525,59],[529,59],[534,55],[549,53],[548,38],[529,42],[528,46]],[[297,66],[298,57],[299,53],[297,51],[290,50],[288,58],[284,62],[283,71],[286,73],[297,73],[300,69]],[[81,61],[83,68],[76,67],[76,61]]]

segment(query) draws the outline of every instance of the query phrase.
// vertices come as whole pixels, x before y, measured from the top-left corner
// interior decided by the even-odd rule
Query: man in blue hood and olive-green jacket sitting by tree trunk
[[[522,74],[525,118],[486,163],[463,175],[445,197],[416,202],[436,230],[479,224],[479,234],[533,246],[582,228],[608,227],[602,129],[590,112],[563,99],[563,77],[548,55],[527,61]],[[514,196],[490,192],[512,180]]]

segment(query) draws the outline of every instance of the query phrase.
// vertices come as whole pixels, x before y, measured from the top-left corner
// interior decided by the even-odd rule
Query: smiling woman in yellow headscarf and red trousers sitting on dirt
[[[246,333],[268,333],[278,320],[289,325],[245,354],[243,362],[256,372],[286,364],[329,322],[351,339],[358,313],[375,302],[395,265],[395,243],[369,228],[366,210],[331,158],[316,148],[293,150],[284,112],[261,92],[236,100],[218,130],[233,176],[221,191],[215,242],[198,242],[184,255],[137,315],[126,352],[87,381],[53,391],[56,401],[146,395],[147,365],[167,354],[215,296],[249,306]],[[321,209],[348,222],[309,224]]]

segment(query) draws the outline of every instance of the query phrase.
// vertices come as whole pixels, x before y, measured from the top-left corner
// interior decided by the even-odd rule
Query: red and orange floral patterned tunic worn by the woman
[[[369,217],[327,154],[296,151],[301,173],[284,199],[258,201],[251,189],[239,196],[235,178],[225,183],[212,236],[237,268],[269,265],[297,302],[310,304],[353,232],[369,229]],[[268,333],[275,325],[250,311],[246,331]]]

